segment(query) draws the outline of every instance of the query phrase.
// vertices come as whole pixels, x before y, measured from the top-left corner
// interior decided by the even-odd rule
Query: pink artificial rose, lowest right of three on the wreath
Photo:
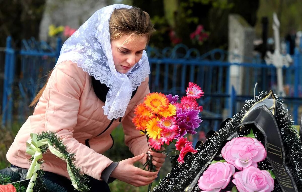
[[[232,182],[239,192],[270,192],[274,189],[274,179],[268,171],[250,166],[234,174]]]

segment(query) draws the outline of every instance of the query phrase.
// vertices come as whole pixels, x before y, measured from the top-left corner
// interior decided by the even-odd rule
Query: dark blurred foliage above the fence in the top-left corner
[[[0,47],[7,36],[20,40],[38,37],[45,0],[0,0]]]

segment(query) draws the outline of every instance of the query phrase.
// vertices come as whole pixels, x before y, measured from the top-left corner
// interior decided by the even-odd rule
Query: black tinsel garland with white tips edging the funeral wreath
[[[224,141],[237,131],[237,127],[241,122],[241,119],[245,113],[252,107],[252,105],[259,101],[262,97],[268,94],[268,91],[261,91],[255,99],[246,101],[243,109],[236,113],[232,119],[225,122],[225,125],[214,134],[210,134],[204,143],[198,143],[196,145],[196,154],[187,154],[185,163],[176,165],[172,168],[171,172],[163,178],[159,185],[154,187],[152,192],[178,192],[185,191],[185,188],[193,181],[198,172],[207,163],[207,161],[216,153],[217,150],[223,146]],[[277,95],[275,94],[277,98]],[[276,108],[276,121],[280,129],[281,138],[284,144],[286,159],[285,162],[291,169],[292,176],[296,182],[297,188],[302,189],[302,142],[297,135],[297,131],[292,128],[293,121],[289,119],[288,110],[284,108],[283,102],[277,99]],[[242,130],[239,132],[239,136],[247,135],[249,130]],[[255,137],[258,140],[262,140],[260,132],[255,132]],[[270,169],[272,167],[267,159],[258,163],[259,169]],[[201,176],[201,175],[199,175]],[[234,185],[232,182],[221,191],[231,191]],[[195,185],[193,192],[199,192],[201,189],[198,187],[198,183]],[[274,192],[281,192],[281,188],[278,181],[275,179]]]

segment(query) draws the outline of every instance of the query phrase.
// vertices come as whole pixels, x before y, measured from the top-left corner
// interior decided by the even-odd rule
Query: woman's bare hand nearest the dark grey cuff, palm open
[[[145,157],[145,153],[120,161],[110,176],[136,187],[152,183],[157,178],[158,172],[149,172],[133,166],[134,162],[143,157]]]

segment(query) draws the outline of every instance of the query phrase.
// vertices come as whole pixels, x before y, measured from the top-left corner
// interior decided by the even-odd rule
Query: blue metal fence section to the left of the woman
[[[12,38],[7,38],[2,125],[10,127],[13,120],[22,122],[30,115],[32,111],[28,106],[43,85],[42,77],[53,69],[61,44],[62,41],[58,38],[54,50],[46,42],[31,38],[22,40],[21,49],[15,50],[12,47]]]

